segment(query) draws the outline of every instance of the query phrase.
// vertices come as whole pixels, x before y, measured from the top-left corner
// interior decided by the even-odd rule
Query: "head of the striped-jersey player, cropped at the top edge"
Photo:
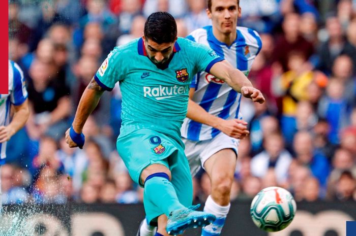
[[[238,18],[241,17],[241,8],[236,0],[213,0],[211,11],[207,9],[206,13],[212,19],[215,29],[228,34],[236,31]]]

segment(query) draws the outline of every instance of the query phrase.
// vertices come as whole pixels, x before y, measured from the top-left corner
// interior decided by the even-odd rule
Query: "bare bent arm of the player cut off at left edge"
[[[13,105],[14,107],[14,116],[12,121],[7,126],[0,126],[0,143],[9,141],[10,138],[20,130],[26,123],[29,110],[28,110],[28,100],[27,98],[20,105]]]

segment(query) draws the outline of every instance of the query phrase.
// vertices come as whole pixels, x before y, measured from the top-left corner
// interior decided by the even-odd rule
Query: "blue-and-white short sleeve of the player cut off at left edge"
[[[23,72],[18,64],[11,62],[13,68],[13,91],[11,93],[11,103],[19,106],[25,102],[27,98],[26,83],[23,77]]]

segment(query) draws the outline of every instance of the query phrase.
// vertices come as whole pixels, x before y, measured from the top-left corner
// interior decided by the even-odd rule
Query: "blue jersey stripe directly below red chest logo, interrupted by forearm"
[[[216,83],[210,83],[207,86],[203,98],[201,99],[201,102],[199,104],[205,111],[209,112],[209,109],[211,108],[214,100],[219,94],[220,88],[221,85]],[[198,141],[201,125],[201,123],[191,120],[188,125],[187,138],[190,140]]]

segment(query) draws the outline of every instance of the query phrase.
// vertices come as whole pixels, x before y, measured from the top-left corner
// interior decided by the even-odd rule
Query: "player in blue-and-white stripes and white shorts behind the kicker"
[[[241,16],[239,0],[207,0],[207,7],[213,25],[197,29],[187,38],[209,46],[234,68],[248,75],[262,43],[256,31],[236,27]],[[217,217],[213,224],[203,228],[202,236],[221,233],[230,208],[239,139],[249,134],[240,112],[241,96],[257,92],[252,85],[242,87],[241,93],[236,92],[224,81],[205,72],[198,73],[191,83],[182,139],[192,176],[202,166],[211,179],[212,193],[204,211]],[[154,228],[143,221],[137,235],[150,236],[153,231]]]

